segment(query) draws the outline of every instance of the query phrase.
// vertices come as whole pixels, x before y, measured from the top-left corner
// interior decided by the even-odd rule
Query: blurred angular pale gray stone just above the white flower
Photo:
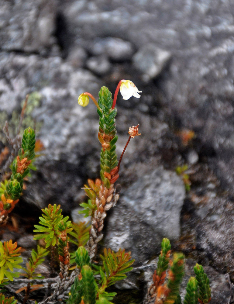
[[[167,50],[148,43],[133,56],[132,63],[142,73],[142,79],[147,82],[162,71],[170,57],[171,53]]]

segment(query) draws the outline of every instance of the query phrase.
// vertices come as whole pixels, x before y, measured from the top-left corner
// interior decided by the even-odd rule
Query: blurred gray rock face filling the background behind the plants
[[[15,208],[18,222],[25,215],[32,222],[49,203],[78,219],[81,187],[99,175],[100,144],[95,105],[81,108],[77,98],[85,91],[97,98],[102,85],[114,94],[120,79],[130,79],[143,93],[118,97],[118,155],[129,126],[139,123],[142,135],[123,158],[120,199],[102,246],[131,250],[140,266],[168,237],[194,264],[212,269],[211,303],[227,303],[224,274],[234,279],[232,1],[0,0],[0,7],[1,126],[20,113],[26,94],[38,92],[32,118],[45,147]],[[175,173],[184,164],[187,180]],[[2,239],[30,232],[4,231]]]

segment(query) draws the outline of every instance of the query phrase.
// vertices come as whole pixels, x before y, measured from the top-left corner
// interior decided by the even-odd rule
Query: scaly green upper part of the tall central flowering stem
[[[98,93],[98,105],[101,110],[97,108],[99,115],[99,134],[98,139],[102,143],[101,150],[101,171],[100,176],[104,186],[110,188],[110,180],[105,176],[105,172],[110,173],[113,168],[118,165],[117,154],[115,152],[115,143],[118,139],[115,129],[115,116],[117,114],[116,108],[112,110],[112,94],[107,87],[102,87]]]

